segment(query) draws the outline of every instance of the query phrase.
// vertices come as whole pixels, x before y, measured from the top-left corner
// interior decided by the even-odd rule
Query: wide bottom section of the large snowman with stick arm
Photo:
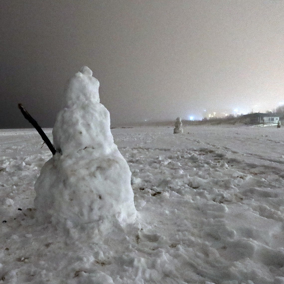
[[[131,171],[119,150],[93,156],[92,149],[73,157],[59,153],[48,160],[35,183],[36,219],[57,227],[100,226],[136,219]]]

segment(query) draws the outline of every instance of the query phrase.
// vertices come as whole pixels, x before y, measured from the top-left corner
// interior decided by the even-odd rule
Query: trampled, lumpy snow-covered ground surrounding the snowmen
[[[51,152],[34,130],[0,130],[0,283],[284,284],[283,128],[112,134],[132,171],[137,222],[74,239],[34,219],[34,182]]]

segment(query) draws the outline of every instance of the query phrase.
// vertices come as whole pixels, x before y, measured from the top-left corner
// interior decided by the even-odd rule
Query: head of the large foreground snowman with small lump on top
[[[93,71],[83,66],[67,84],[65,91],[67,107],[76,105],[90,105],[99,103],[100,82],[94,78]]]

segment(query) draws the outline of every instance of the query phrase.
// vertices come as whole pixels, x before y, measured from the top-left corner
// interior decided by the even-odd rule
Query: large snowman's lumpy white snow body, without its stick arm
[[[131,171],[114,143],[110,114],[100,104],[99,81],[84,66],[68,82],[65,107],[52,131],[57,150],[35,183],[40,223],[76,228],[124,226],[137,216]]]

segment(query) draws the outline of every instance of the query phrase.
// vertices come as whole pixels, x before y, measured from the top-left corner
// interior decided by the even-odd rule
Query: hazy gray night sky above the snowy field
[[[284,0],[1,0],[0,128],[53,127],[87,65],[112,126],[284,103]]]

